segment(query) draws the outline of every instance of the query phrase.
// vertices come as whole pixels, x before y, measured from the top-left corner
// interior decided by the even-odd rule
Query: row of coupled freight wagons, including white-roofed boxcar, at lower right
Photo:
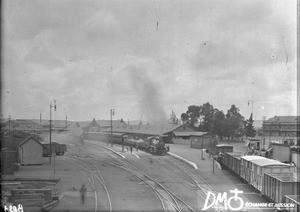
[[[300,194],[300,181],[295,166],[257,155],[244,156],[240,152],[224,152],[219,162],[266,199],[274,203],[292,201],[295,208],[289,210],[300,210],[300,196],[297,196]],[[291,196],[295,197],[294,201]]]

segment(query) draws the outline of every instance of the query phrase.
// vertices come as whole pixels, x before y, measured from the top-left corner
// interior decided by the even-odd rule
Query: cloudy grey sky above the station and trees
[[[2,117],[48,119],[54,99],[69,120],[296,115],[296,0],[2,4]]]

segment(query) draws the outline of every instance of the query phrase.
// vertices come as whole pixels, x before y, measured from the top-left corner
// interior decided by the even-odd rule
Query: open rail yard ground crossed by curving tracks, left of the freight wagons
[[[170,153],[153,155],[138,149],[111,145],[103,141],[81,140],[79,131],[54,133],[54,139],[67,144],[65,155],[55,157],[49,165],[44,157],[41,166],[21,166],[15,177],[48,178],[57,181],[26,181],[7,183],[6,190],[15,188],[48,188],[57,196],[48,211],[274,211],[274,208],[247,208],[246,203],[265,204],[267,200],[228,170],[213,163],[199,149],[170,144]],[[171,155],[178,155],[182,161]],[[187,162],[194,163],[194,166]],[[213,167],[214,165],[214,167]],[[195,167],[197,169],[195,169]],[[87,188],[84,204],[80,188]],[[237,189],[241,202],[232,199]],[[226,201],[214,201],[218,194]],[[210,199],[207,200],[207,197]],[[40,211],[35,205],[24,211]]]

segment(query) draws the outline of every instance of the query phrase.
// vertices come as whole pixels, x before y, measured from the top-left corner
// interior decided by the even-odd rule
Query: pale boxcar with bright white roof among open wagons
[[[294,170],[295,167],[289,164],[261,156],[248,155],[241,158],[241,175],[244,171],[242,178],[259,192],[262,192],[265,173],[289,173]]]

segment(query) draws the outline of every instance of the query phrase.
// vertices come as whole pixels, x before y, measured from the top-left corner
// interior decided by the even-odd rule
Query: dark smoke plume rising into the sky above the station
[[[129,68],[131,85],[137,96],[140,112],[149,121],[166,121],[161,96],[155,84],[148,77],[146,70]]]

